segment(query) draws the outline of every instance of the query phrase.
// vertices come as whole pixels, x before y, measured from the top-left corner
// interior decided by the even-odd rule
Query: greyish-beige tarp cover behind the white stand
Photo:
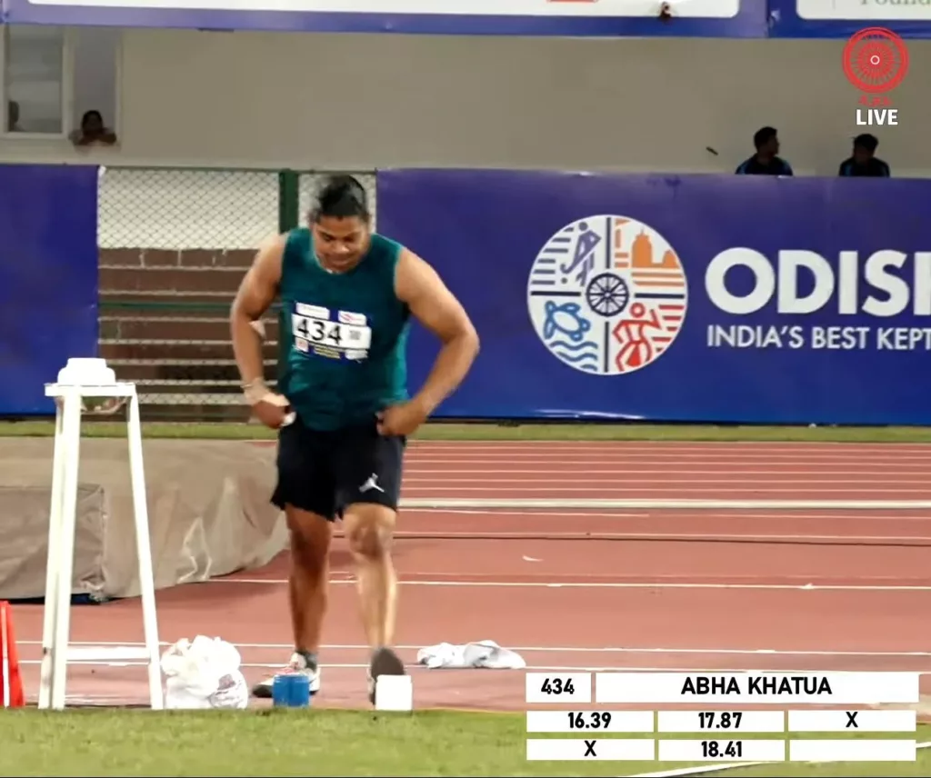
[[[287,547],[275,449],[143,440],[155,587],[263,566]],[[51,438],[0,440],[0,599],[45,594]],[[125,439],[81,440],[75,594],[139,594]]]

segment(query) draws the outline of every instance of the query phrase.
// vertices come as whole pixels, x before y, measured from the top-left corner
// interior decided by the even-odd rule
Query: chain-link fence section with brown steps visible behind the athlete
[[[98,232],[100,355],[137,383],[143,418],[248,416],[229,338],[230,302],[263,239],[305,221],[322,175],[107,168]],[[357,175],[374,204],[374,174]],[[265,322],[270,382],[275,313]]]

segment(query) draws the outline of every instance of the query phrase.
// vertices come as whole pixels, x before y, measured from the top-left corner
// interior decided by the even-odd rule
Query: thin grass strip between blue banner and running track
[[[0,422],[0,437],[47,437],[51,421]],[[83,435],[126,436],[126,423],[86,417]],[[142,436],[203,440],[272,440],[276,434],[257,423],[142,424]],[[931,427],[774,427],[643,423],[428,423],[416,440],[720,440],[809,443],[931,443]]]

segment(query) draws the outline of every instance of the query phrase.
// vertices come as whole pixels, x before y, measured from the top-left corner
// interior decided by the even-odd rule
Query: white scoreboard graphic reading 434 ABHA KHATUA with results
[[[541,709],[527,711],[527,758],[914,761],[917,714],[907,706],[919,701],[919,677],[897,672],[528,673],[526,702]],[[884,737],[870,738],[870,732]]]

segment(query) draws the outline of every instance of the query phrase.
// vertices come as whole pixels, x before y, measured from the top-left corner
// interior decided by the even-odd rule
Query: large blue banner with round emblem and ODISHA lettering
[[[481,353],[441,417],[931,423],[931,181],[388,170]],[[438,351],[414,327],[412,390]]]

